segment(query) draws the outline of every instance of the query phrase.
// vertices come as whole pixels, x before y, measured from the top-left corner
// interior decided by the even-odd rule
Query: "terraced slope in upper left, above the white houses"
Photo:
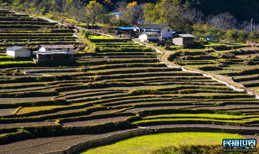
[[[0,10],[0,50],[14,45],[37,50],[41,44],[79,45],[73,37],[73,27],[59,26],[40,18]]]

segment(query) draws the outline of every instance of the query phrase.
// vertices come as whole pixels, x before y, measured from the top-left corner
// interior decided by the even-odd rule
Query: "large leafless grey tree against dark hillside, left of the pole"
[[[209,26],[217,26],[222,30],[233,29],[237,24],[237,20],[229,12],[224,12],[222,14],[218,14],[217,16],[209,15],[207,20]]]

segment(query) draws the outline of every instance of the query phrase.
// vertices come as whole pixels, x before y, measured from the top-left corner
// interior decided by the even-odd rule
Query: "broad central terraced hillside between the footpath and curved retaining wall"
[[[45,142],[55,136],[137,126],[259,125],[259,104],[253,95],[233,91],[200,73],[167,67],[159,63],[155,50],[133,41],[117,39],[115,43],[96,45],[96,52],[75,54],[77,61],[88,67],[24,67],[19,69],[28,73],[39,70],[37,73],[51,76],[1,77],[0,144],[5,144],[0,145],[1,153],[24,153],[13,147],[22,147],[19,140],[32,139],[29,142],[35,146],[25,148],[26,152],[42,153],[58,149],[32,148],[38,142],[33,138],[44,137]],[[70,146],[77,143],[63,142]],[[6,147],[14,150],[7,151]]]

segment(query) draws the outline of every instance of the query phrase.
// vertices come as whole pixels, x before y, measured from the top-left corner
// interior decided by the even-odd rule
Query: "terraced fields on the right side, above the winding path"
[[[180,51],[170,56],[170,61],[210,73],[224,75],[255,92],[259,90],[259,47],[235,50]]]

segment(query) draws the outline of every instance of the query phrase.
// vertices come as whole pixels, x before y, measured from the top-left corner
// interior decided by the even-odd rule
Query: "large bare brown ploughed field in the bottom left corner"
[[[137,128],[134,128],[137,129]],[[133,129],[129,129],[133,130]],[[127,130],[119,130],[115,132],[106,132],[103,134],[89,134],[89,135],[71,135],[59,136],[49,138],[36,138],[31,140],[24,140],[7,145],[0,145],[1,154],[37,154],[51,151],[58,151],[67,149],[79,142],[91,140],[95,138],[105,137],[111,134],[124,132]]]

